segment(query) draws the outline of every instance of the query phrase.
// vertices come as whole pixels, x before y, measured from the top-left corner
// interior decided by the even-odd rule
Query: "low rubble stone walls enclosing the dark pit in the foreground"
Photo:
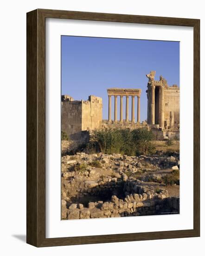
[[[72,175],[72,173],[70,174]],[[89,219],[123,216],[147,216],[160,214],[179,214],[179,198],[169,197],[167,190],[158,193],[138,185],[137,181],[113,178],[100,182],[67,181],[63,184],[66,191],[77,197],[77,202],[67,204],[62,200],[62,219]],[[76,192],[74,192],[76,188]],[[124,192],[119,199],[116,191]],[[110,200],[82,203],[82,197],[102,196],[102,192],[111,191]],[[122,198],[122,197],[121,197]],[[80,202],[79,202],[80,201]]]

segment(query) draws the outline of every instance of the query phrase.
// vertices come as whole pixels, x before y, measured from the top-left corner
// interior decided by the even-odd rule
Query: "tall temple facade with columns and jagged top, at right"
[[[154,79],[156,72],[147,74],[147,123],[159,125],[164,129],[179,128],[179,87],[169,86],[167,80],[160,75]]]

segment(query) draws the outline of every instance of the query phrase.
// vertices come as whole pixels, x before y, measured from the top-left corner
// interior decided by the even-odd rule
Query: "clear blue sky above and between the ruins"
[[[107,88],[141,88],[141,121],[147,119],[147,77],[156,71],[169,85],[179,85],[179,42],[61,36],[62,94],[75,100],[102,97],[108,119]],[[120,98],[120,97],[118,97]],[[131,119],[131,98],[129,100]],[[125,97],[123,101],[125,119]],[[137,98],[135,98],[136,120]],[[120,115],[118,99],[118,119]],[[114,97],[112,97],[114,119]]]

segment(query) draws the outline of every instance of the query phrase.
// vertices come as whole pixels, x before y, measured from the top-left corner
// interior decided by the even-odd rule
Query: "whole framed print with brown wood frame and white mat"
[[[27,243],[200,235],[199,24],[27,13]]]

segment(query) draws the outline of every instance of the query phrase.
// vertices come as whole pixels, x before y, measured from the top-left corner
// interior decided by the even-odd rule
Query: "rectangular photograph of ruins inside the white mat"
[[[179,214],[179,41],[61,35],[61,219]]]

